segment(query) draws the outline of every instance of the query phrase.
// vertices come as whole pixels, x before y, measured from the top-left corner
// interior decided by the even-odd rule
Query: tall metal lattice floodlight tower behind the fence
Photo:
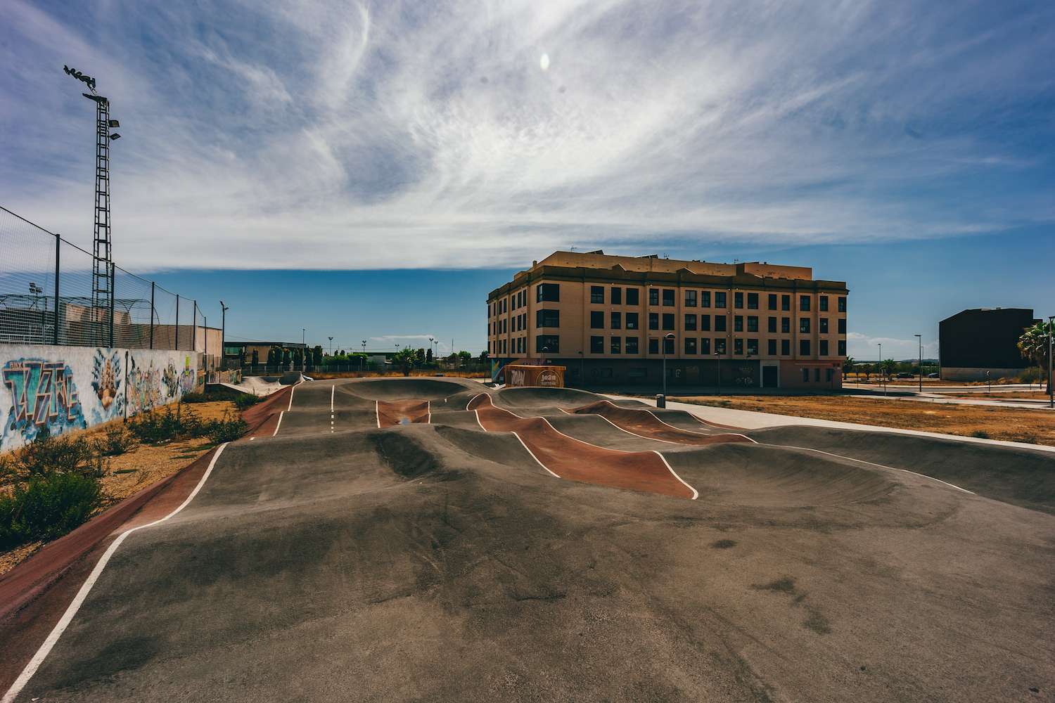
[[[120,126],[110,119],[110,100],[95,92],[95,79],[70,66],[62,66],[66,75],[83,81],[92,93],[81,93],[95,101],[95,230],[92,254],[92,317],[96,323],[96,339],[99,346],[114,346],[114,267],[111,252],[110,233],[110,140],[121,135],[110,134],[110,128]],[[106,328],[99,327],[102,313],[108,310],[110,319]],[[106,332],[104,332],[106,330]],[[109,334],[107,334],[109,332]]]

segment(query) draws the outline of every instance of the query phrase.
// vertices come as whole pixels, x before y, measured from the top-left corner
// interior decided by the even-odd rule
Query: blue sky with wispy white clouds
[[[6,0],[0,204],[88,247],[93,110],[68,64],[121,120],[116,260],[224,299],[234,336],[479,351],[486,292],[577,247],[811,266],[851,289],[850,354],[921,333],[934,355],[961,309],[1055,313],[1053,18]]]

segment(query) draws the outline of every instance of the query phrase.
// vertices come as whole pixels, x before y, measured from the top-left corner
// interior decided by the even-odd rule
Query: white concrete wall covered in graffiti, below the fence
[[[195,388],[190,351],[0,345],[0,452],[131,417]]]

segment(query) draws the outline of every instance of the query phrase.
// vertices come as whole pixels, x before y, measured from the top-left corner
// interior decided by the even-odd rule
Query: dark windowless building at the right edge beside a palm
[[[1018,374],[1028,362],[1018,339],[1034,319],[1033,310],[997,308],[964,310],[938,325],[941,377],[951,380],[985,380]]]

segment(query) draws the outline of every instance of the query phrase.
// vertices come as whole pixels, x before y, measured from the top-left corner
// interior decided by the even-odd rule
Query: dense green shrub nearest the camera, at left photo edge
[[[87,522],[106,500],[99,483],[80,473],[33,475],[0,495],[0,548],[62,536]]]

